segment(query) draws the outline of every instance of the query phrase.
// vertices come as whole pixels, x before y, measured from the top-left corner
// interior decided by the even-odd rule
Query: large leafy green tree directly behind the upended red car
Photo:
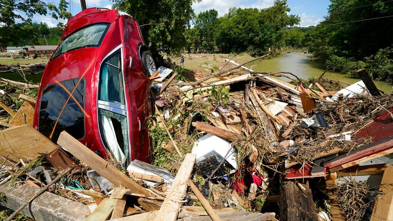
[[[133,15],[141,27],[146,44],[156,55],[180,53],[186,45],[185,30],[194,16],[195,0],[115,0],[114,8]],[[159,25],[147,25],[159,24]]]

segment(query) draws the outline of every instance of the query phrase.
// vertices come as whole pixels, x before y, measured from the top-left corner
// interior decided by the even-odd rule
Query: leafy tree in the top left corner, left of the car
[[[31,23],[34,14],[50,14],[55,19],[70,18],[67,6],[65,0],[60,0],[58,6],[40,0],[0,0],[0,47],[22,46],[23,40],[34,37]]]

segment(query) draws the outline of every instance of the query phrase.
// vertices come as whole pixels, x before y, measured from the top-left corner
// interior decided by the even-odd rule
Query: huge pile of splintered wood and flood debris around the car
[[[126,168],[65,131],[58,145],[43,137],[30,126],[34,98],[4,100],[0,184],[8,200],[0,204],[15,211],[9,219],[40,217],[39,194],[49,191],[74,220],[389,220],[393,96],[372,96],[369,81],[308,85],[247,63],[228,60],[195,81],[162,68],[164,82],[152,85],[151,164]],[[273,77],[283,75],[294,84]],[[31,93],[27,86],[12,93]],[[21,186],[41,191],[12,205],[11,190]],[[79,216],[68,214],[75,208]]]

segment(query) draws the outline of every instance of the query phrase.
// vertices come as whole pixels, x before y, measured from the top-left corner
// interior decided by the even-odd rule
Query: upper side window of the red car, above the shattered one
[[[102,63],[98,99],[124,104],[120,51],[115,52]]]

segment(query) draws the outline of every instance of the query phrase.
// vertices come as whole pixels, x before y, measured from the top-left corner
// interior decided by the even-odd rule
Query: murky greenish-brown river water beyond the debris
[[[258,60],[249,63],[247,68],[251,68],[254,71],[260,72],[291,72],[299,78],[308,79],[310,77],[319,77],[324,69],[315,60],[308,58],[311,54],[303,54],[301,52],[291,52],[290,54],[280,54],[272,59]],[[348,78],[345,75],[328,71],[324,75],[333,80],[340,80],[350,84],[356,83],[360,79]],[[293,78],[293,77],[292,77]],[[285,77],[280,77],[283,81],[290,81]],[[374,81],[377,87],[386,92],[392,92],[392,84],[385,81]]]

